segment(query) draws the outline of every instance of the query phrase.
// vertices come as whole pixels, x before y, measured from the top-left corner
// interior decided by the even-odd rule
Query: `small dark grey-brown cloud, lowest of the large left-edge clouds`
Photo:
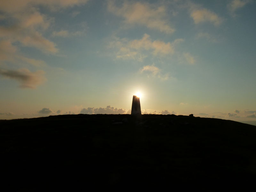
[[[0,75],[17,80],[20,83],[20,88],[35,89],[36,86],[43,84],[46,80],[44,71],[38,70],[36,72],[31,72],[25,68],[19,70],[0,69]]]

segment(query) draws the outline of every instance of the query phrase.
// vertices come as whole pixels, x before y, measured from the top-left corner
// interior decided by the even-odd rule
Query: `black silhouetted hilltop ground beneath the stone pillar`
[[[256,178],[256,126],[229,120],[81,114],[1,120],[0,140],[4,191],[248,191]]]

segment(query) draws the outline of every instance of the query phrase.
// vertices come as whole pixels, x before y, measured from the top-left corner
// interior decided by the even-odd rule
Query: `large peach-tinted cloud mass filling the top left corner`
[[[46,53],[56,53],[58,49],[49,39],[43,36],[52,23],[52,18],[40,12],[39,6],[52,11],[87,3],[88,0],[8,0],[0,1],[1,19],[12,20],[0,26],[0,38],[11,43],[20,42],[23,46],[35,47]]]

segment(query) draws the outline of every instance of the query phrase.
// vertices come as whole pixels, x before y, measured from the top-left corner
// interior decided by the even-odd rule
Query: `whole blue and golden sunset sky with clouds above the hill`
[[[254,0],[2,0],[0,119],[256,120]],[[108,107],[107,107],[108,106]]]

